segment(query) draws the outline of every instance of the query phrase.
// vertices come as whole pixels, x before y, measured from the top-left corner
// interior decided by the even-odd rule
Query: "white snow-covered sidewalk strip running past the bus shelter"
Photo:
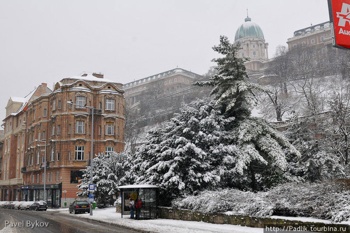
[[[57,211],[57,209],[55,209]],[[66,215],[72,215],[68,213],[68,209],[59,209],[59,211]],[[125,226],[133,229],[139,229],[150,232],[177,232],[177,233],[262,233],[263,228],[253,228],[239,225],[230,224],[213,224],[199,221],[183,221],[173,219],[151,219],[151,220],[134,220],[130,219],[130,216],[123,215],[121,218],[120,213],[115,212],[115,207],[108,207],[93,210],[93,215],[89,213],[75,214],[76,217],[82,217],[87,219],[96,219],[120,226]]]

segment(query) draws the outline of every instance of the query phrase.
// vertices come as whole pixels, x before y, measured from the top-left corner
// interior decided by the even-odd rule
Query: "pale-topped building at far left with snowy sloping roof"
[[[24,164],[26,110],[31,101],[38,96],[51,92],[45,83],[31,91],[26,97],[10,97],[3,120],[3,135],[0,136],[1,159],[1,200],[19,200],[23,175],[20,172]]]

